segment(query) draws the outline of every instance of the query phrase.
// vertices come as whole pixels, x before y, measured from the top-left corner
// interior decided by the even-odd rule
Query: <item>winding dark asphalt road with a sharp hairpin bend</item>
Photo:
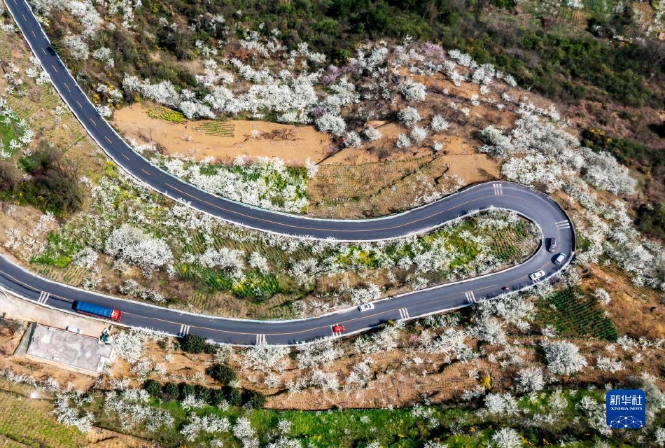
[[[511,291],[526,288],[531,285],[528,274],[542,269],[546,278],[563,269],[570,261],[575,235],[566,213],[547,195],[514,183],[484,183],[402,214],[365,220],[321,220],[281,214],[205,193],[163,172],[134,152],[99,116],[80,90],[66,66],[52,50],[25,0],[6,0],[6,4],[55,88],[106,154],[146,186],[174,200],[185,202],[194,209],[248,228],[281,235],[374,241],[425,232],[474,211],[498,207],[516,211],[536,223],[544,239],[556,237],[558,241],[556,253],[547,252],[545,241],[542,241],[531,258],[503,272],[389,297],[374,302],[374,309],[362,313],[352,308],[293,321],[251,321],[202,316],[91,293],[43,279],[15,265],[8,258],[1,257],[0,287],[9,293],[70,312],[74,300],[102,304],[123,311],[123,325],[154,328],[173,335],[194,333],[218,342],[239,345],[295,344],[335,336],[332,325],[336,324],[345,325],[344,334],[351,334],[388,320],[407,320],[467,307],[481,300],[498,297],[504,292],[501,289],[503,286]],[[568,256],[562,265],[555,265],[552,260],[559,252]],[[63,319],[64,325],[66,318]]]

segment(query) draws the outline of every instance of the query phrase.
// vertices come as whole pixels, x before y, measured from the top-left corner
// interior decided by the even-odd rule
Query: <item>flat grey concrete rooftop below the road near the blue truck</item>
[[[113,347],[99,344],[96,337],[36,325],[25,356],[40,363],[97,376],[102,365],[113,360],[114,353]]]

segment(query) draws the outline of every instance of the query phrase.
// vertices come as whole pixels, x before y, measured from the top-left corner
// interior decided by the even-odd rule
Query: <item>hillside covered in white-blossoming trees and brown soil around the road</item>
[[[664,1],[30,4],[100,113],[199,188],[367,218],[503,179],[551,195],[577,247],[530,290],[293,348],[116,328],[99,379],[13,356],[30,311],[8,311],[0,445],[665,445]],[[298,318],[496,272],[544,237],[499,210],[367,244],[218,221],[106,158],[0,21],[0,242],[49,279]],[[645,391],[645,429],[605,425],[611,388]]]

